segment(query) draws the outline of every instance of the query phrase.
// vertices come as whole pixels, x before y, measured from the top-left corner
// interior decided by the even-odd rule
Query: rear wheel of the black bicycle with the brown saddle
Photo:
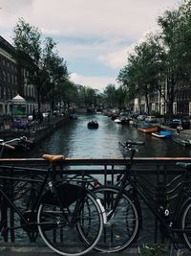
[[[79,256],[92,250],[103,229],[103,217],[96,198],[87,193],[80,202],[75,201],[64,212],[65,215],[58,205],[40,204],[37,222],[44,242],[60,255]],[[75,221],[72,221],[74,216]],[[83,230],[85,239],[79,230]]]

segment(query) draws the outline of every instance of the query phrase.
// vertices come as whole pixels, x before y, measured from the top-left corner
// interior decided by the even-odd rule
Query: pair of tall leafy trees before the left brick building
[[[38,110],[41,102],[51,100],[52,110],[55,102],[60,101],[60,86],[69,79],[66,61],[58,56],[53,38],[47,37],[42,48],[41,33],[23,18],[13,29],[13,44],[18,58],[27,57],[27,68],[30,71],[30,81],[35,85]],[[61,85],[62,84],[62,85]]]

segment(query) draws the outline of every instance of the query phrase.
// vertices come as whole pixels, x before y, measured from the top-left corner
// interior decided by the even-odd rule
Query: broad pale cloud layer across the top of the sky
[[[175,0],[0,0],[8,26],[23,16],[48,35],[138,38]],[[15,12],[16,11],[16,12]],[[3,19],[1,20],[3,21]],[[10,23],[11,21],[11,23]],[[4,25],[6,26],[6,22]],[[14,24],[12,24],[14,25]]]

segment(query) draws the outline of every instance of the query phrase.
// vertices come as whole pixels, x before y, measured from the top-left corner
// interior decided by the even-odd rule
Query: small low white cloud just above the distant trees
[[[116,78],[111,77],[83,77],[76,73],[72,73],[70,77],[75,84],[90,86],[100,91],[103,91],[109,83],[117,84]]]

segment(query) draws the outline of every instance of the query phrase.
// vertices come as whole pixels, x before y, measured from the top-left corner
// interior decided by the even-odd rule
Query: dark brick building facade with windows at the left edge
[[[26,100],[27,115],[37,109],[35,87],[28,78],[27,66],[18,64],[15,49],[0,36],[0,116],[11,116],[11,99],[17,94]]]

